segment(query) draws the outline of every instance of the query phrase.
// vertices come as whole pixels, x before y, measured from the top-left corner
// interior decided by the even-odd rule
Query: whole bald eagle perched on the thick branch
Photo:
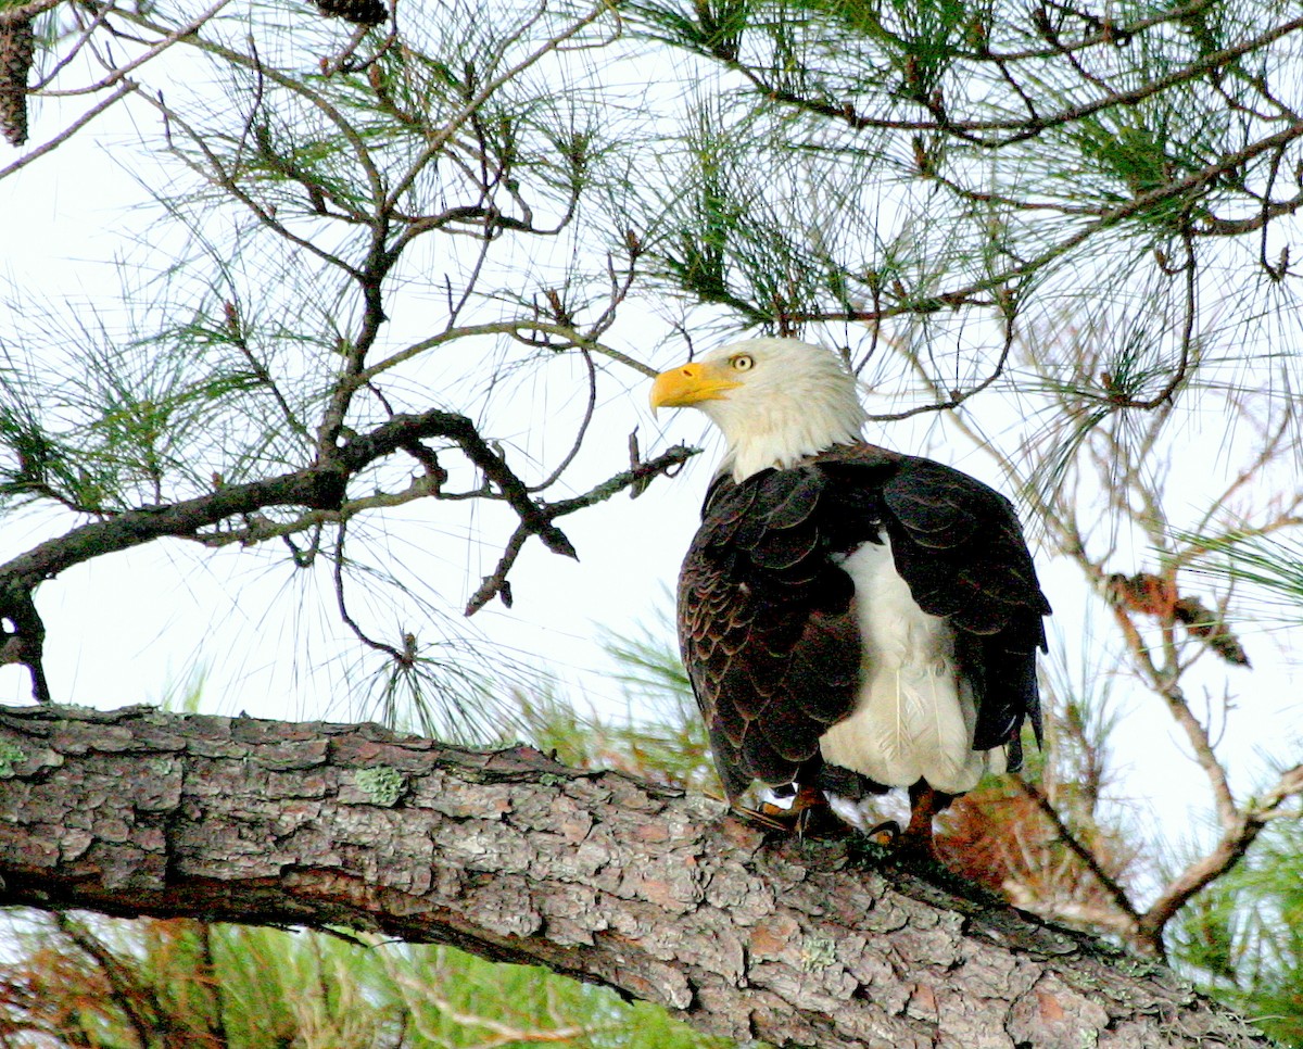
[[[907,787],[904,843],[1040,743],[1050,606],[1012,504],[866,443],[838,354],[751,339],[672,367],[727,446],[679,576],[679,641],[732,803],[754,782],[818,805]]]

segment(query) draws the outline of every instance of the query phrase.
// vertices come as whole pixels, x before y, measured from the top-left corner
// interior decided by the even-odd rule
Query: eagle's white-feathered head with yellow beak
[[[723,433],[737,481],[859,440],[866,420],[842,358],[799,339],[731,343],[657,375],[653,408],[688,405]]]

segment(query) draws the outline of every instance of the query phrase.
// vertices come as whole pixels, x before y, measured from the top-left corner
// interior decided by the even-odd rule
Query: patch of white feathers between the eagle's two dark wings
[[[855,582],[864,653],[855,711],[820,740],[826,761],[878,783],[925,779],[946,794],[1003,770],[1003,748],[973,751],[977,711],[955,661],[954,633],[928,615],[895,571],[886,537],[864,543],[842,566]]]

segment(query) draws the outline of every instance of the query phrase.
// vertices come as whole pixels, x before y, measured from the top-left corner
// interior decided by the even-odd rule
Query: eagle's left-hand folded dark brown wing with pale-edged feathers
[[[820,526],[827,487],[812,464],[718,478],[679,576],[683,661],[730,798],[817,768],[859,688],[855,588]]]

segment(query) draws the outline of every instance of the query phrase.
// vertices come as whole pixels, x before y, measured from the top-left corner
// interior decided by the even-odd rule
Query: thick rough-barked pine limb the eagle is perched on
[[[0,902],[348,925],[775,1045],[1248,1046],[1161,966],[529,748],[129,708],[0,711]]]

